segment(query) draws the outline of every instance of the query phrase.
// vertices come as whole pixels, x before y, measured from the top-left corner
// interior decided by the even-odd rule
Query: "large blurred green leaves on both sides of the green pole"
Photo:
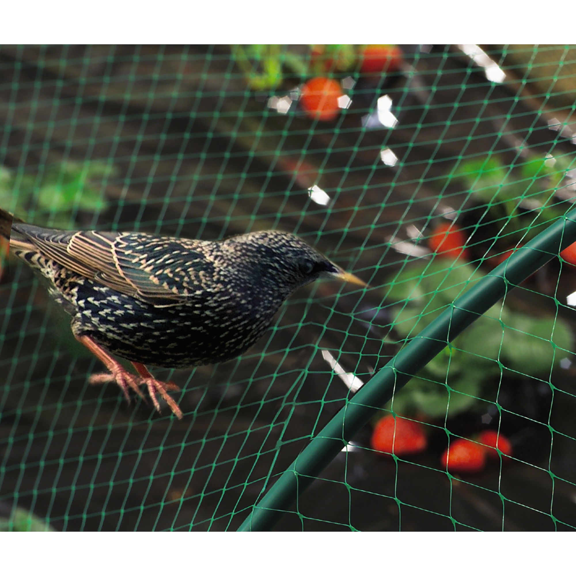
[[[393,275],[386,299],[396,302],[391,307],[396,333],[403,341],[418,335],[483,276],[471,264],[446,257],[414,263]],[[573,350],[574,335],[564,320],[514,312],[501,302],[397,392],[392,408],[399,414],[455,416],[473,409],[483,388],[497,382],[503,369],[508,377],[549,378]]]

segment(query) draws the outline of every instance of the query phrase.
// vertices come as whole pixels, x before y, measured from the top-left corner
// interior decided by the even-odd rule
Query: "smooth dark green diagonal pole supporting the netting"
[[[431,322],[348,401],[310,441],[239,530],[270,530],[370,418],[423,366],[441,352],[508,289],[524,281],[560,250],[576,241],[576,209],[518,249],[505,262]]]

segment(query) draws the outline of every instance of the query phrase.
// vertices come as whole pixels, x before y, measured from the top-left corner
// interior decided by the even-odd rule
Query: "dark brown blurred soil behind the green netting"
[[[534,59],[531,47],[485,46],[507,75],[493,84],[456,47],[401,48],[405,69],[360,79],[331,123],[268,108],[226,46],[1,48],[0,164],[41,174],[54,162],[111,158],[118,169],[105,183],[108,209],[80,211],[79,228],[205,239],[280,228],[371,286],[306,287],[243,357],[157,370],[183,388],[179,422],[141,401],[127,406],[115,385],[90,386],[101,367],[75,346],[40,282],[12,263],[0,285],[3,501],[58,530],[238,528],[349,396],[321,349],[364,380],[395,353],[382,343],[383,286],[407,256],[391,242],[446,209],[472,213],[467,193],[439,196],[436,181],[456,158],[574,153],[574,49],[543,47]],[[278,93],[294,85],[287,78]],[[383,94],[399,123],[366,130],[362,118]],[[558,121],[562,132],[550,129]],[[383,147],[397,166],[382,163]],[[298,161],[306,170],[294,171]],[[313,184],[334,202],[313,203]],[[550,263],[507,304],[555,313],[576,283],[574,272],[558,274]],[[576,528],[576,373],[556,372],[555,388],[504,377],[498,406],[486,408],[513,442],[512,461],[461,480],[441,469],[446,429],[482,430],[478,411],[431,422],[427,452],[397,463],[368,449],[366,426],[276,529]]]

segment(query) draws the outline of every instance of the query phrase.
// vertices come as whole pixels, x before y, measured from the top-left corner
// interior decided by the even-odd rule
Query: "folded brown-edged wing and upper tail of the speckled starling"
[[[32,242],[37,251],[60,266],[122,294],[156,306],[175,306],[189,297],[190,290],[181,285],[179,278],[170,282],[172,275],[164,278],[158,274],[158,270],[166,268],[158,264],[161,257],[166,257],[165,251],[158,255],[150,255],[147,251],[147,242],[152,244],[150,249],[154,252],[154,242],[162,246],[162,242],[169,242],[166,238],[118,232],[65,233],[30,225],[16,225],[15,228],[25,237],[21,241],[22,248],[26,242],[29,249]],[[18,242],[14,240],[15,244]],[[176,245],[180,247],[179,243]],[[14,248],[18,248],[18,245],[14,245]],[[194,267],[194,260],[198,266],[202,264],[202,255],[192,252],[192,257],[185,260],[188,267]],[[190,270],[187,269],[185,277],[189,275]]]

